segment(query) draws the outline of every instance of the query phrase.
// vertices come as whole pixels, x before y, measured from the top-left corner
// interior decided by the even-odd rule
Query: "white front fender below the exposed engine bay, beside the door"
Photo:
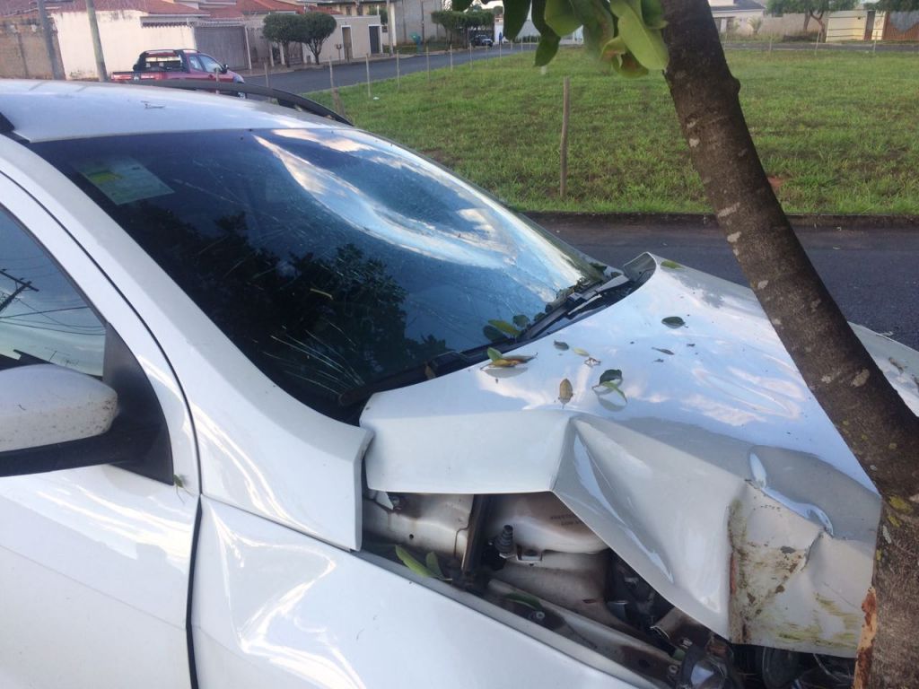
[[[433,591],[232,507],[202,507],[192,611],[202,687],[654,686],[591,651],[602,669],[585,664],[575,644],[572,655],[544,644],[554,635],[532,623],[521,634],[510,613],[482,615],[447,584]]]

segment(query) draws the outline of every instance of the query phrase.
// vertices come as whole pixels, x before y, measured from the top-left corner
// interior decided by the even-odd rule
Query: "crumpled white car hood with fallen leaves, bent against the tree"
[[[854,655],[871,481],[751,290],[650,254],[626,272],[640,288],[520,347],[525,364],[375,395],[369,488],[552,491],[721,636]],[[855,327],[919,412],[919,353]],[[621,394],[599,385],[618,371]]]

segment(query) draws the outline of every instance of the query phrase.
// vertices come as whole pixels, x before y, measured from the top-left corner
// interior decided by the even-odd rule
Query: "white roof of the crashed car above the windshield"
[[[0,80],[0,120],[27,141],[168,131],[304,129],[335,122],[265,101],[177,88]]]

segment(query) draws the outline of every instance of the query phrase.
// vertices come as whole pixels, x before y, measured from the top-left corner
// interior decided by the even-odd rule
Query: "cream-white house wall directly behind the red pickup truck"
[[[96,57],[85,12],[53,14],[61,44],[63,70],[68,79],[95,79]],[[142,12],[96,12],[99,38],[108,73],[127,72],[142,51],[155,48],[194,48],[194,29],[187,25],[145,27]]]

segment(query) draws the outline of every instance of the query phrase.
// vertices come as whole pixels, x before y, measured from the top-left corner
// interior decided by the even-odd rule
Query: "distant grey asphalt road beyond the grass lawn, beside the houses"
[[[532,44],[518,43],[513,49],[509,44],[501,49],[502,57],[510,54],[518,54],[520,51],[532,51],[535,46]],[[466,65],[465,69],[475,69],[474,62],[480,60],[497,59],[498,48],[475,48],[471,55],[470,51],[459,50],[453,52],[453,68],[459,69]],[[473,61],[469,66],[470,59]],[[401,55],[399,58],[399,71],[403,74],[415,72],[424,72],[427,69],[427,62],[430,61],[432,70],[449,67],[450,56],[447,53],[432,53],[425,58],[425,54],[420,55]],[[363,60],[357,60],[348,64],[335,64],[332,68],[335,76],[336,86],[351,86],[356,84],[365,84],[367,82],[367,66]],[[383,79],[395,79],[396,61],[394,58],[377,59],[370,61],[370,81],[376,82]],[[265,85],[265,74],[252,74],[246,76],[247,84]],[[283,91],[289,91],[295,94],[308,93],[310,91],[321,91],[329,88],[329,68],[324,67],[307,67],[295,72],[275,73],[269,77],[270,85],[273,88],[279,88]]]

